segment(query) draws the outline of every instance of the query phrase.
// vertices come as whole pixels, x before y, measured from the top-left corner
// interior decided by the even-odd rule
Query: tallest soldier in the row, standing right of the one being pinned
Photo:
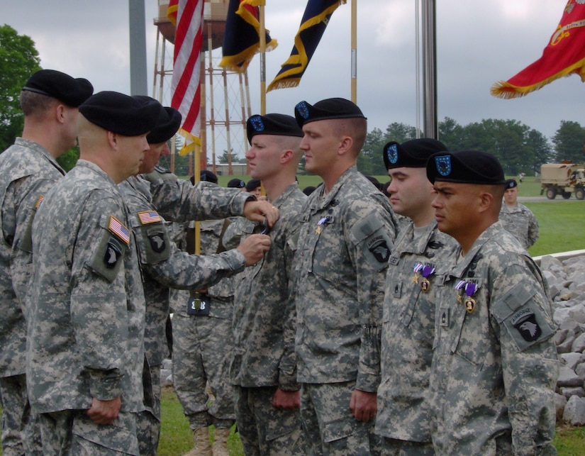
[[[296,355],[308,453],[376,454],[384,279],[396,238],[386,196],[357,171],[367,121],[351,101],[301,101],[306,170],[323,178],[303,208],[296,253]],[[372,445],[371,445],[372,441]]]

